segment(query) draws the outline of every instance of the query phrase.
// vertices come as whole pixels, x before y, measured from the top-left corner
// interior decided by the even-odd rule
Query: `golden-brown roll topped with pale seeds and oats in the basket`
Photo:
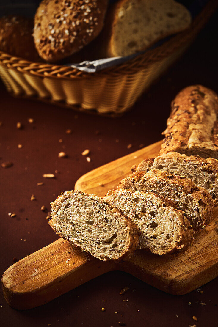
[[[64,59],[100,33],[108,0],[43,0],[35,14],[33,37],[46,61]]]

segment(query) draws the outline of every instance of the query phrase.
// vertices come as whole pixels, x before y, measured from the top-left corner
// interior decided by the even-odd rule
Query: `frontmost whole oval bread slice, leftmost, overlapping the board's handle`
[[[137,248],[136,225],[96,195],[64,192],[51,203],[51,216],[57,234],[100,260],[128,259]]]

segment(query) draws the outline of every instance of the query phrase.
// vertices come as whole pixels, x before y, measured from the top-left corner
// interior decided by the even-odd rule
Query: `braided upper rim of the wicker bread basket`
[[[207,23],[209,17],[213,14],[217,7],[218,1],[210,0],[204,9],[202,9],[202,11],[198,14],[198,16],[195,17],[188,29],[177,33],[175,36],[171,37],[170,40],[164,42],[154,49],[150,49],[145,53],[134,57],[133,59],[95,73],[80,71],[77,68],[72,68],[64,64],[58,65],[32,62],[9,55],[3,51],[0,51],[0,64],[7,66],[8,68],[17,69],[22,73],[53,78],[92,78],[105,75],[115,76],[120,74],[134,74],[139,70],[146,69],[147,66],[168,57],[172,53],[178,51],[186,43],[189,43]]]

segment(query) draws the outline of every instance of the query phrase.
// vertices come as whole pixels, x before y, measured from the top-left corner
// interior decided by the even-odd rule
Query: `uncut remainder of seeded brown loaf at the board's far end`
[[[183,89],[171,104],[160,155],[179,152],[218,159],[218,96],[201,85]]]

